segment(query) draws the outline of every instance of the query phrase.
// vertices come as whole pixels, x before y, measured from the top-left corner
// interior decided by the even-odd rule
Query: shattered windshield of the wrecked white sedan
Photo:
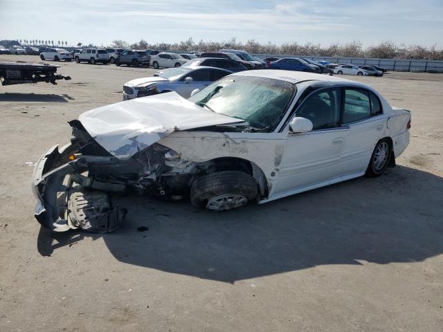
[[[295,89],[295,85],[282,80],[235,75],[211,84],[189,100],[269,132],[280,123]]]

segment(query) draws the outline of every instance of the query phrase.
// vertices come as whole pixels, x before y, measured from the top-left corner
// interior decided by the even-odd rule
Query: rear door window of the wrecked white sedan
[[[364,120],[371,116],[371,104],[368,91],[345,89],[343,124]]]

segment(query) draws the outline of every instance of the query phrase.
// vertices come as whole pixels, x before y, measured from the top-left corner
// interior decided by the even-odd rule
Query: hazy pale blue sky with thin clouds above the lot
[[[0,0],[0,39],[443,46],[443,0]]]

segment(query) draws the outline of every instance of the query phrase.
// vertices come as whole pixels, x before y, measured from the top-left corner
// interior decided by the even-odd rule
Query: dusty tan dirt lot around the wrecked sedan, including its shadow
[[[95,235],[39,227],[32,163],[153,70],[60,65],[0,86],[0,331],[443,331],[443,75],[355,77],[413,115],[380,178],[221,214],[132,196]]]

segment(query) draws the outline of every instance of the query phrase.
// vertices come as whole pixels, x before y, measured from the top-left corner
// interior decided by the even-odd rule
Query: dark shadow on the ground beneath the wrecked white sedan
[[[230,283],[323,264],[423,261],[443,253],[442,199],[443,178],[408,167],[224,213],[132,196],[120,201],[129,213],[116,232],[42,229],[38,250],[103,237],[123,263]]]

